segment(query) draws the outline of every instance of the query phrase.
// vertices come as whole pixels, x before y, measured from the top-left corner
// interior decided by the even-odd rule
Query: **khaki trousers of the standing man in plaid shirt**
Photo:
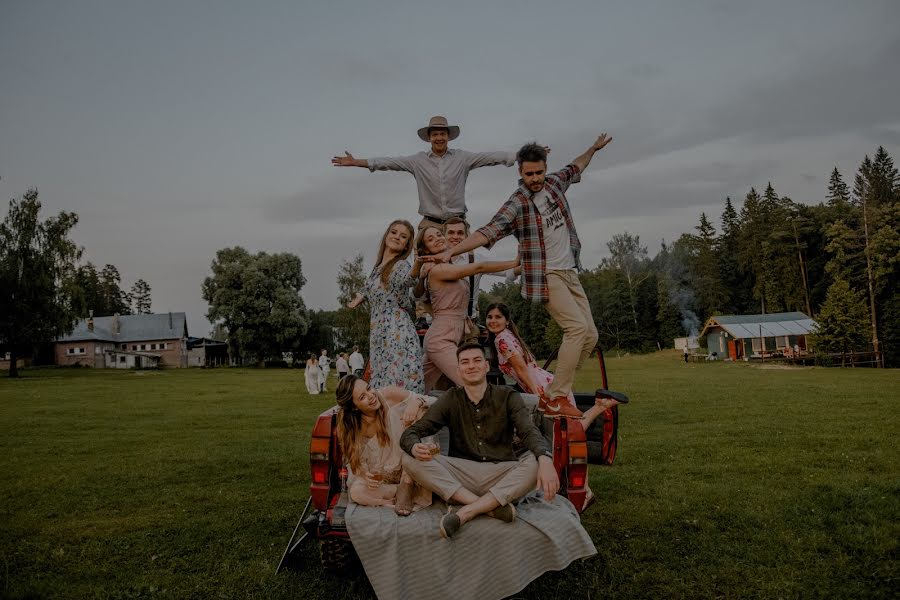
[[[577,272],[547,271],[547,287],[550,290],[550,299],[545,305],[547,312],[563,330],[553,383],[547,389],[547,395],[552,399],[568,396],[572,391],[575,371],[590,356],[598,336],[591,305]]]

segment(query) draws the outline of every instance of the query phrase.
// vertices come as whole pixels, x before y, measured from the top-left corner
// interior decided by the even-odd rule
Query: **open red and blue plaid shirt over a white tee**
[[[573,183],[581,181],[581,173],[575,165],[566,165],[561,171],[550,173],[544,179],[544,190],[556,202],[566,218],[569,228],[569,245],[575,258],[575,268],[581,270],[581,242],[575,231],[566,190]],[[541,213],[532,202],[534,193],[520,180],[513,192],[490,222],[478,231],[487,239],[490,248],[502,238],[512,234],[519,240],[522,251],[522,297],[532,302],[546,302],[550,299],[547,289],[546,252],[544,234],[541,227]]]

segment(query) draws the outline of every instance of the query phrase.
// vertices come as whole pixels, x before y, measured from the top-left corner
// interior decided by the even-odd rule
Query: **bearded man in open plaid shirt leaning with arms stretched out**
[[[601,134],[590,148],[555,173],[546,173],[547,152],[538,144],[519,149],[519,187],[484,227],[457,246],[434,257],[447,262],[480,246],[490,248],[512,234],[522,254],[522,296],[543,302],[563,330],[562,347],[553,383],[541,397],[540,408],[549,416],[580,417],[569,400],[575,371],[597,344],[597,327],[587,295],[578,279],[581,242],[575,231],[566,190],[581,180],[594,153],[612,141]]]

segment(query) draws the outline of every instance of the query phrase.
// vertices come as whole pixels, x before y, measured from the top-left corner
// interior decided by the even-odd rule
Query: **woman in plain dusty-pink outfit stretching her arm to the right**
[[[426,227],[416,238],[419,258],[439,254],[447,249],[447,240],[437,227]],[[431,298],[434,319],[425,334],[425,393],[446,375],[456,385],[462,380],[457,373],[456,349],[462,342],[466,328],[466,307],[469,302],[469,282],[466,277],[477,273],[498,273],[513,269],[519,259],[462,264],[427,264],[422,268],[425,289]]]

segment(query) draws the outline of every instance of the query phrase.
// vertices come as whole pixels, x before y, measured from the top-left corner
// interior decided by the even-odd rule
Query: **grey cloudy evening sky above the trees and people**
[[[817,203],[834,166],[900,158],[898,23],[897,0],[3,0],[0,194],[77,212],[86,260],[205,335],[216,250],[295,253],[333,308],[341,259],[416,220],[409,175],[331,156],[417,152],[444,114],[457,147],[538,140],[552,169],[607,131],[569,193],[590,267],[616,233],[652,255],[751,186]],[[471,221],[516,179],[473,172]]]

